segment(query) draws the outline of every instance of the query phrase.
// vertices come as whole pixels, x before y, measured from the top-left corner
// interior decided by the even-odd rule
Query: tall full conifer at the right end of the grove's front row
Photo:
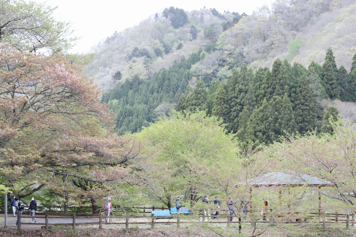
[[[295,122],[300,134],[315,128],[317,124],[315,102],[307,77],[299,80],[297,88],[297,101],[295,102]]]

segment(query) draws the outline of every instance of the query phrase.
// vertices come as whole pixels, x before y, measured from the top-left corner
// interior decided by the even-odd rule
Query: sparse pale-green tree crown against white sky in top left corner
[[[32,53],[66,52],[75,38],[70,24],[56,21],[46,4],[24,0],[1,1],[0,43],[9,43],[20,51]]]

